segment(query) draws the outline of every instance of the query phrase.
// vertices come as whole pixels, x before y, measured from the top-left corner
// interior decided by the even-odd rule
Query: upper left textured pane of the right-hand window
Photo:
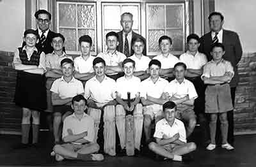
[[[164,6],[148,6],[148,29],[164,28]]]

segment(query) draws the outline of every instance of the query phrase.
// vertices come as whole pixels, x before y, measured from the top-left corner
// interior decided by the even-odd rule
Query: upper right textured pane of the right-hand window
[[[183,7],[181,5],[166,6],[166,27],[182,27]]]

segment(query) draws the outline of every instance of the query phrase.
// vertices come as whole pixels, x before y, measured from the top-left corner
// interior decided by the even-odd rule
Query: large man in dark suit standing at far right
[[[235,75],[230,82],[231,98],[234,105],[236,87],[239,82],[237,64],[243,54],[239,36],[234,31],[228,31],[222,28],[224,17],[220,12],[212,12],[208,19],[211,31],[200,38],[199,51],[207,56],[208,61],[211,61],[212,57],[210,51],[212,44],[218,42],[223,43],[225,47],[225,55],[223,56],[223,59],[231,62],[235,72]],[[228,112],[228,143],[234,143],[233,111]]]

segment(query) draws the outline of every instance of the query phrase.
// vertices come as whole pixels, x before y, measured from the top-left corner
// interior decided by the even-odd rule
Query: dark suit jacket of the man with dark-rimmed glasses
[[[38,29],[36,29],[36,32],[38,33]],[[39,35],[39,34],[38,34]],[[45,54],[50,54],[53,52],[53,48],[52,48],[52,45],[51,45],[51,40],[52,40],[52,36],[54,35],[54,32],[49,30],[48,34],[47,34],[47,37],[44,41],[43,44],[41,44],[40,42],[39,43],[36,43],[36,48],[42,52],[44,52]],[[24,47],[26,45],[25,42],[22,43],[22,47]]]

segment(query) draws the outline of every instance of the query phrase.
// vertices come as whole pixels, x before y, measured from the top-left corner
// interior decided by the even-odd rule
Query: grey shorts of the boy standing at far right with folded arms
[[[205,113],[223,113],[233,110],[230,86],[208,85],[205,90]]]

